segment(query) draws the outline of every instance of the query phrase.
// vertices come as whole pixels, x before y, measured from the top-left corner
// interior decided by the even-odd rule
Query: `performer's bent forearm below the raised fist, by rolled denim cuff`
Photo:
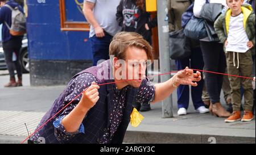
[[[73,110],[63,118],[62,124],[67,132],[76,132],[89,109],[81,106],[79,102]]]

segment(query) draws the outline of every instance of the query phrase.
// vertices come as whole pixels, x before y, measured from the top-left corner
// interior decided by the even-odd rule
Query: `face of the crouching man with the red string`
[[[129,47],[126,51],[125,64],[121,66],[122,79],[135,79],[126,81],[133,87],[141,86],[142,79],[146,77],[147,53],[144,49]]]

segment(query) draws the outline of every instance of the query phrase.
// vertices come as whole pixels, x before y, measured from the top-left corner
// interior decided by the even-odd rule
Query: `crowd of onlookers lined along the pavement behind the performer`
[[[168,21],[170,32],[183,29],[181,16],[192,5],[193,16],[200,17],[206,3],[222,5],[222,14],[215,19],[212,27],[218,40],[191,39],[191,55],[177,59],[177,70],[196,68],[210,72],[228,73],[252,77],[255,75],[255,1],[243,0],[168,0]],[[85,0],[84,14],[90,27],[92,41],[93,65],[100,59],[108,59],[109,43],[118,31],[137,32],[152,44],[151,28],[157,26],[157,19],[146,12],[143,0],[121,0],[109,2]],[[101,9],[107,12],[103,15]],[[108,15],[108,18],[106,18]],[[104,17],[103,17],[104,16]],[[237,27],[239,25],[240,27]],[[105,56],[101,56],[105,55]],[[221,90],[225,104],[221,103]],[[254,97],[253,97],[254,95]],[[250,121],[255,108],[255,89],[251,79],[223,76],[221,74],[203,73],[203,79],[197,87],[191,87],[191,97],[195,110],[218,117],[225,122],[236,120]],[[245,104],[242,106],[242,97]],[[187,115],[189,106],[189,86],[177,87],[177,115]],[[141,111],[149,111],[150,104],[134,103]],[[244,111],[241,118],[240,111]]]

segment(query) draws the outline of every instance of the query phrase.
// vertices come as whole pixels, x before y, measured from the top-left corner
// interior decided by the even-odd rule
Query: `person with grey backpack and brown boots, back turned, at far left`
[[[23,9],[18,3],[13,0],[0,0],[0,24],[2,26],[2,44],[3,51],[5,52],[5,61],[10,74],[10,81],[5,85],[5,87],[16,87],[22,86],[22,66],[19,61],[19,52],[22,46],[22,36],[13,36],[10,34],[9,28],[12,24],[12,10],[11,8],[18,7],[19,11],[23,12]],[[15,79],[16,70],[18,74],[18,82]]]

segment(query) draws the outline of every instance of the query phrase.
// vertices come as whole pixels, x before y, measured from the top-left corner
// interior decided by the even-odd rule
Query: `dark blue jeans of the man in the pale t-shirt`
[[[97,65],[99,60],[108,60],[109,59],[109,44],[113,36],[105,32],[104,37],[90,37],[90,44],[92,47],[93,54],[93,66]]]

